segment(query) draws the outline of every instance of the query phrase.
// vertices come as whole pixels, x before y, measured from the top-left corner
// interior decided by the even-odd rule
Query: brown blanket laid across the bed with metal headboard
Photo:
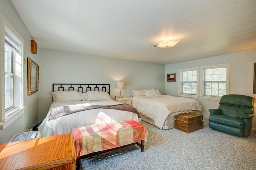
[[[130,106],[128,104],[117,104],[117,105],[93,105],[93,106],[83,106],[83,105],[71,105],[71,106],[59,106],[54,107],[51,109],[51,113],[48,117],[48,121],[57,119],[58,117],[62,117],[64,115],[76,113],[79,111],[89,110],[89,109],[116,109],[116,110],[122,110],[122,111],[130,111],[132,113],[135,113],[140,117],[140,113],[138,110]]]

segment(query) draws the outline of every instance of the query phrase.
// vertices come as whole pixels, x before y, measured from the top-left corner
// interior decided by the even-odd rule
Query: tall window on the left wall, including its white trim
[[[4,129],[24,113],[23,95],[23,49],[24,40],[8,21],[0,14],[1,24],[1,112],[0,129]]]

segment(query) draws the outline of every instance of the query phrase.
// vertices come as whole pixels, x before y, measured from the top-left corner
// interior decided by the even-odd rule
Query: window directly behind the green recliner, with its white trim
[[[201,98],[219,100],[229,94],[229,63],[201,67]]]

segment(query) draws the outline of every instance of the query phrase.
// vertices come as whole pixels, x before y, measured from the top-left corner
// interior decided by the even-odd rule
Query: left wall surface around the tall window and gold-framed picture
[[[20,20],[16,11],[10,4],[10,1],[0,0],[0,12],[8,20],[8,22],[14,27],[18,34],[24,39],[24,59],[30,57],[33,61],[38,63],[38,55],[34,55],[30,52],[30,40],[31,35]],[[2,49],[1,49],[2,50]],[[13,123],[11,123],[4,130],[0,130],[0,143],[8,143],[14,135],[28,130],[28,127],[32,128],[37,123],[37,110],[38,110],[38,93],[27,96],[27,63],[24,64],[24,114],[18,117]],[[1,94],[2,95],[2,94]],[[4,95],[4,94],[3,94]],[[0,101],[2,102],[2,101]]]

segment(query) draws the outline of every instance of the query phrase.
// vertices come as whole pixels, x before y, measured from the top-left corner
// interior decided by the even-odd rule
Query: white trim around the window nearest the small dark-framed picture
[[[190,71],[190,70],[196,70],[196,95],[195,94],[182,94],[182,88],[181,88],[181,82],[182,82],[182,71]],[[179,77],[178,77],[178,96],[182,97],[188,97],[188,98],[198,98],[199,96],[199,67],[192,67],[192,68],[182,68],[179,69]]]

